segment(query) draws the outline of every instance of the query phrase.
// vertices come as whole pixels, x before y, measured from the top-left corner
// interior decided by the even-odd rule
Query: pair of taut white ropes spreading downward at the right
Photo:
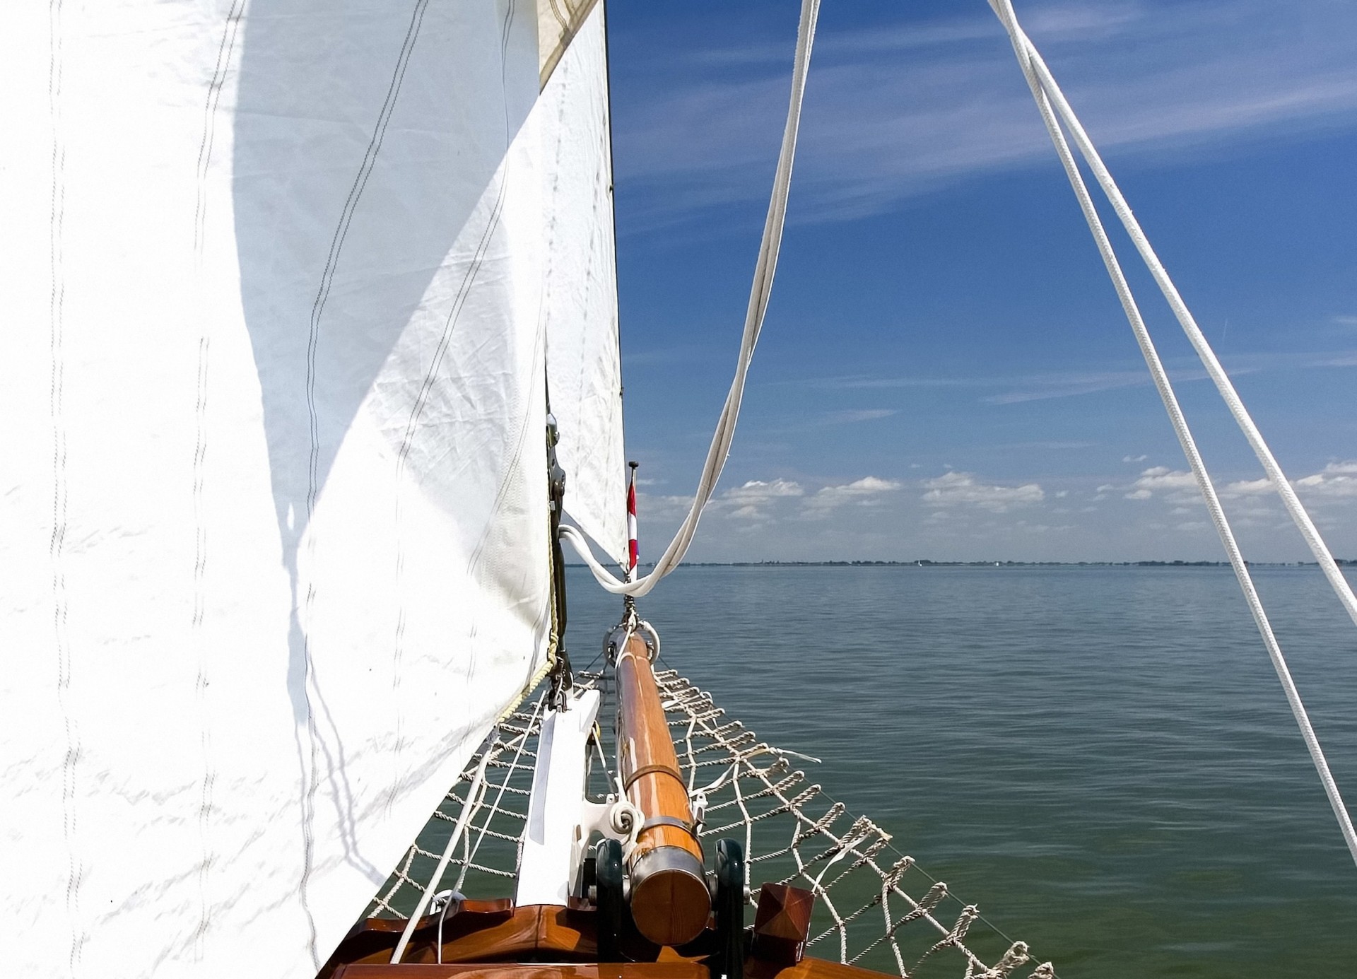
[[[1187,456],[1187,463],[1191,467],[1193,475],[1197,478],[1197,486],[1201,489],[1212,523],[1215,523],[1216,531],[1220,534],[1220,540],[1225,547],[1225,554],[1229,557],[1229,564],[1235,569],[1235,576],[1239,578],[1239,587],[1244,593],[1248,611],[1253,614],[1254,622],[1258,626],[1258,633],[1262,635],[1263,645],[1267,648],[1267,656],[1272,659],[1273,668],[1277,671],[1277,679],[1281,680],[1282,690],[1286,694],[1286,702],[1291,705],[1292,714],[1296,718],[1296,725],[1300,728],[1301,737],[1310,751],[1310,758],[1315,763],[1315,770],[1319,773],[1319,781],[1324,786],[1324,794],[1329,797],[1329,804],[1333,807],[1334,816],[1338,819],[1338,828],[1343,834],[1343,841],[1348,843],[1353,861],[1357,862],[1357,832],[1353,831],[1353,823],[1348,815],[1348,808],[1338,792],[1338,785],[1334,782],[1333,773],[1329,770],[1329,762],[1326,760],[1324,752],[1319,745],[1319,739],[1315,736],[1315,731],[1310,724],[1310,716],[1305,713],[1305,705],[1301,702],[1300,692],[1296,690],[1296,683],[1291,678],[1291,669],[1286,667],[1286,659],[1282,656],[1277,637],[1273,634],[1272,625],[1267,622],[1267,614],[1263,611],[1262,600],[1258,597],[1258,591],[1254,587],[1253,577],[1248,573],[1248,568],[1244,565],[1243,554],[1239,550],[1239,544],[1235,542],[1234,531],[1231,531],[1229,521],[1225,519],[1225,512],[1220,504],[1220,497],[1216,494],[1216,487],[1212,485],[1210,475],[1206,473],[1206,464],[1202,462],[1201,454],[1197,449],[1197,443],[1187,426],[1187,420],[1178,405],[1178,398],[1168,380],[1168,372],[1164,369],[1163,361],[1160,361],[1153,341],[1149,337],[1149,331],[1145,329],[1145,322],[1141,318],[1140,308],[1137,307],[1136,299],[1130,292],[1130,285],[1126,282],[1121,263],[1117,261],[1111,242],[1107,238],[1107,231],[1103,228],[1102,219],[1098,216],[1092,197],[1090,196],[1088,187],[1079,171],[1079,164],[1075,162],[1075,156],[1069,149],[1064,132],[1060,128],[1060,121],[1056,118],[1056,109],[1052,107],[1052,102],[1056,102],[1060,117],[1075,134],[1075,141],[1079,144],[1084,158],[1090,160],[1090,166],[1094,167],[1094,172],[1099,175],[1099,183],[1102,183],[1103,190],[1109,197],[1113,197],[1115,183],[1111,182],[1111,175],[1107,174],[1106,167],[1102,166],[1102,160],[1098,159],[1096,151],[1092,149],[1092,144],[1088,141],[1088,136],[1084,133],[1083,128],[1079,126],[1069,103],[1065,102],[1064,96],[1058,94],[1054,79],[1052,79],[1050,72],[1046,71],[1045,64],[1041,61],[1039,54],[1037,54],[1031,41],[1018,24],[1018,16],[1012,8],[1012,0],[989,0],[989,5],[995,10],[995,14],[1003,23],[1004,30],[1008,31],[1008,38],[1014,45],[1014,53],[1018,56],[1018,64],[1022,67],[1023,76],[1027,79],[1027,86],[1031,88],[1033,98],[1037,102],[1037,110],[1041,113],[1041,119],[1046,125],[1046,130],[1050,133],[1052,143],[1056,145],[1056,155],[1060,158],[1060,162],[1065,168],[1069,183],[1075,190],[1075,197],[1079,200],[1079,208],[1083,210],[1084,219],[1088,221],[1088,229],[1092,232],[1098,251],[1102,255],[1103,263],[1107,266],[1107,274],[1111,277],[1113,287],[1117,291],[1117,297],[1121,300],[1126,319],[1130,322],[1130,329],[1136,334],[1136,342],[1140,345],[1140,350],[1145,357],[1145,364],[1149,367],[1149,373],[1155,380],[1155,387],[1159,388],[1159,396],[1163,399],[1164,409],[1168,411],[1168,420],[1172,424],[1174,433],[1182,444],[1183,455]],[[1096,166],[1092,163],[1094,159],[1098,159]],[[1106,182],[1103,181],[1103,177],[1106,177]],[[1111,190],[1109,190],[1109,186]],[[1286,482],[1281,468],[1277,467],[1272,454],[1267,452],[1267,447],[1263,444],[1262,436],[1258,435],[1258,429],[1254,428],[1253,420],[1248,418],[1248,413],[1239,401],[1239,395],[1235,394],[1234,387],[1229,384],[1229,379],[1225,377],[1224,369],[1220,367],[1220,361],[1216,360],[1206,338],[1201,335],[1201,330],[1197,329],[1196,322],[1191,319],[1191,314],[1187,312],[1186,306],[1183,306],[1182,299],[1178,296],[1178,291],[1174,289],[1172,282],[1168,280],[1168,273],[1164,272],[1159,259],[1153,257],[1153,251],[1149,250],[1149,243],[1145,240],[1144,232],[1140,231],[1140,225],[1130,215],[1130,208],[1126,205],[1126,201],[1121,197],[1120,191],[1117,191],[1113,205],[1118,215],[1122,216],[1122,221],[1128,223],[1128,231],[1130,231],[1132,225],[1134,225],[1132,238],[1137,239],[1137,248],[1140,248],[1140,242],[1144,243],[1144,247],[1140,248],[1140,254],[1145,259],[1145,263],[1151,265],[1151,272],[1158,269],[1155,276],[1156,281],[1160,281],[1160,288],[1164,291],[1166,297],[1168,297],[1171,292],[1172,299],[1170,299],[1170,303],[1174,304],[1177,300],[1174,308],[1175,314],[1179,308],[1182,310],[1182,314],[1178,318],[1179,323],[1183,325],[1185,330],[1187,330],[1189,323],[1191,325],[1189,337],[1193,339],[1193,345],[1197,346],[1198,353],[1202,354],[1202,361],[1208,363],[1209,357],[1208,371],[1212,369],[1213,364],[1215,371],[1219,372],[1221,380],[1217,380],[1217,387],[1221,388],[1223,396],[1225,395],[1225,388],[1228,388],[1229,395],[1225,396],[1225,401],[1231,406],[1231,414],[1234,414],[1235,420],[1239,421],[1240,428],[1244,428],[1244,435],[1250,437],[1250,443],[1254,444],[1255,451],[1259,451],[1261,448],[1259,459],[1263,459],[1262,454],[1266,454],[1263,464],[1266,467],[1270,463],[1269,478],[1278,486],[1278,492],[1281,492],[1281,486],[1285,486],[1286,492],[1291,494],[1289,500],[1293,501],[1297,508],[1297,511],[1293,511],[1293,516],[1299,512],[1304,517],[1305,525],[1308,525],[1312,531],[1319,549],[1315,551],[1316,557],[1322,551],[1329,559],[1329,564],[1333,565],[1333,558],[1329,557],[1329,550],[1324,547],[1323,540],[1319,539],[1319,532],[1314,528],[1314,524],[1310,523],[1310,517],[1305,515],[1304,506],[1301,506],[1300,501],[1296,498],[1295,490],[1292,490],[1291,483]],[[1216,377],[1215,372],[1212,373],[1212,377]],[[1246,421],[1247,428],[1244,425]],[[1250,436],[1250,432],[1253,432],[1253,436]],[[1273,475],[1274,470],[1276,477]],[[1288,500],[1285,493],[1282,494],[1282,500]],[[1289,508],[1291,504],[1288,502],[1288,509]],[[1297,517],[1297,524],[1299,523],[1300,519]],[[1305,534],[1304,525],[1301,527],[1301,534]],[[1307,536],[1307,542],[1310,542],[1310,536]],[[1312,550],[1315,550],[1315,544],[1312,544]],[[1343,580],[1342,573],[1338,572],[1337,565],[1334,566],[1334,572],[1338,574],[1338,581],[1342,583],[1342,588],[1335,585],[1335,591],[1339,592],[1339,599],[1343,599],[1343,595],[1346,593],[1350,600],[1352,591],[1348,588],[1348,583]],[[1343,604],[1345,607],[1349,607],[1346,600]],[[1353,607],[1349,607],[1350,614],[1353,614],[1354,607],[1357,607],[1357,603],[1354,603]],[[1354,615],[1354,622],[1357,622],[1357,615]]]

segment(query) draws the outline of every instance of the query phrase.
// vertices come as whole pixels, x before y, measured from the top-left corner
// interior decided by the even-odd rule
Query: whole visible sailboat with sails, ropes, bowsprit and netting
[[[993,7],[1357,854],[1065,130],[1357,600]],[[28,325],[0,331],[3,621],[35,650],[0,732],[16,972],[1053,976],[669,669],[636,606],[730,451],[817,12],[734,377],[641,574],[601,3],[18,7],[0,172],[46,190],[0,231]],[[627,596],[584,669],[562,539]]]

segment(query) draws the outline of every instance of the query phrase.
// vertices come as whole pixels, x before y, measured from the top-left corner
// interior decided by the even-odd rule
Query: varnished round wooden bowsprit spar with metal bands
[[[683,945],[707,926],[711,893],[688,786],[639,635],[631,635],[617,654],[616,676],[617,767],[627,798],[645,816],[628,860],[631,917],[657,945]]]

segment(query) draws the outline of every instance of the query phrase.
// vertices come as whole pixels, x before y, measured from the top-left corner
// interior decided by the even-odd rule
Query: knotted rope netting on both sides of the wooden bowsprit
[[[944,883],[900,853],[886,831],[864,816],[854,817],[811,783],[792,763],[794,752],[760,741],[678,672],[658,671],[655,680],[704,847],[711,850],[723,838],[744,846],[750,904],[765,883],[816,893],[809,955],[909,979],[1054,979],[1050,963],[1019,972],[1034,957],[1026,944],[1010,941],[974,904],[962,904]],[[597,673],[577,673],[577,683],[604,692],[605,743],[590,748],[589,777],[590,793],[603,798],[615,792],[607,763],[613,747],[611,691]],[[540,692],[501,722],[472,756],[373,900],[369,917],[411,912],[468,805],[465,830],[438,887],[467,898],[513,892],[546,698],[547,691]],[[482,764],[484,774],[478,778]],[[982,955],[995,964],[987,965]]]

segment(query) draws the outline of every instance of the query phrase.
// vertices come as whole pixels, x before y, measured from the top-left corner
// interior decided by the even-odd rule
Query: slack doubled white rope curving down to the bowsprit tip
[[[773,178],[772,197],[768,202],[768,217],[764,221],[763,242],[759,246],[759,262],[754,266],[754,281],[749,291],[749,308],[745,312],[745,330],[740,341],[740,358],[735,363],[735,377],[730,382],[730,391],[726,394],[726,405],[721,410],[721,420],[711,437],[711,448],[707,449],[707,460],[702,467],[702,477],[697,479],[697,492],[693,496],[688,516],[674,534],[673,540],[665,553],[655,561],[650,574],[635,581],[620,581],[612,572],[594,559],[589,551],[589,544],[579,531],[562,525],[560,536],[569,540],[579,551],[593,572],[598,584],[613,595],[647,595],[660,578],[666,576],[678,562],[683,561],[697,532],[697,520],[702,511],[716,490],[716,481],[721,470],[730,455],[730,443],[735,436],[735,422],[740,418],[740,402],[745,395],[745,375],[749,371],[749,361],[753,360],[754,346],[759,342],[759,331],[763,329],[764,314],[768,311],[768,297],[772,293],[773,273],[778,269],[778,251],[782,247],[782,228],[787,217],[787,194],[791,189],[791,164],[797,153],[797,130],[801,125],[801,100],[806,90],[806,72],[810,68],[810,48],[816,37],[816,19],[820,16],[820,0],[802,0],[801,24],[797,30],[797,58],[791,72],[791,100],[787,107],[787,125],[782,133],[782,152],[778,156],[778,172]]]

